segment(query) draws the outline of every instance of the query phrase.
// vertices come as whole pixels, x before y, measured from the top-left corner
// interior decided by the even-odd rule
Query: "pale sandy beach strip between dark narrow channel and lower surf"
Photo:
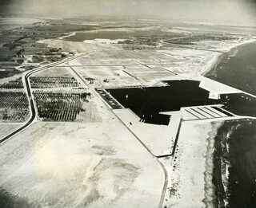
[[[167,207],[213,207],[214,135],[222,122],[183,122],[166,191]]]

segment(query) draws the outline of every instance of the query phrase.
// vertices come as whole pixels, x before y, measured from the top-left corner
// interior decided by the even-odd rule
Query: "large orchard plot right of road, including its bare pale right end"
[[[90,92],[84,92],[84,90],[80,92],[36,90],[33,95],[38,109],[38,117],[42,121],[100,121],[98,111],[90,101]]]

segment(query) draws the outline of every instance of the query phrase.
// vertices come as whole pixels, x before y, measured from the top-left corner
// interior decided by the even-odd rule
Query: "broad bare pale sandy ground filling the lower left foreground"
[[[1,194],[15,197],[10,205],[158,206],[162,167],[104,108],[101,123],[35,122],[1,144]]]

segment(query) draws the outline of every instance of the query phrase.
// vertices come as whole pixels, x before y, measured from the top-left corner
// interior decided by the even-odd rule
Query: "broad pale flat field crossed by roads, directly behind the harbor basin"
[[[165,50],[104,50],[70,61],[94,87],[157,84],[175,75],[197,76],[210,69],[217,52],[170,48]]]

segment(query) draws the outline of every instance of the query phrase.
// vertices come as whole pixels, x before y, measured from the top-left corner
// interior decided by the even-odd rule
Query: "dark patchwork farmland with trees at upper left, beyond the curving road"
[[[20,69],[30,70],[37,67],[37,63],[60,61],[67,53],[60,48],[51,48],[37,41],[56,38],[71,31],[88,30],[91,26],[78,26],[63,21],[50,20],[37,22],[34,25],[3,29],[0,34],[0,78],[11,77],[21,73]],[[70,55],[73,55],[70,53]],[[27,65],[26,56],[32,61]]]

